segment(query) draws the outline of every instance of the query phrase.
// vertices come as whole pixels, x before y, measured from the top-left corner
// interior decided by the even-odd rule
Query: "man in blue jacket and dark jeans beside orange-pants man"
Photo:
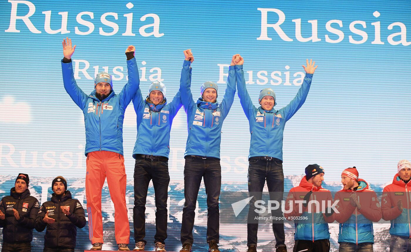
[[[134,250],[144,250],[145,202],[148,184],[153,182],[155,191],[156,234],[155,251],[166,251],[164,240],[167,238],[167,198],[170,182],[169,152],[170,130],[173,118],[181,108],[180,92],[167,103],[166,86],[153,82],[148,88],[145,99],[141,89],[133,98],[137,114],[137,140],[134,145]]]

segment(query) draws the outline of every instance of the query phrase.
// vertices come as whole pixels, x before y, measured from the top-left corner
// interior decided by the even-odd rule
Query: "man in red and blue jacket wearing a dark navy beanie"
[[[294,233],[294,250],[306,252],[330,251],[330,232],[328,223],[334,221],[331,210],[332,195],[327,189],[321,188],[324,180],[324,169],[314,163],[305,168],[305,176],[300,185],[291,188],[285,203],[284,217],[294,219],[296,232]],[[304,200],[302,211],[296,201]],[[314,204],[309,203],[311,200]],[[292,211],[290,210],[290,202]],[[318,202],[318,203],[317,203]],[[315,208],[314,208],[315,207]],[[318,209],[320,209],[318,211]],[[326,209],[326,212],[321,212]],[[300,218],[293,218],[300,217]]]

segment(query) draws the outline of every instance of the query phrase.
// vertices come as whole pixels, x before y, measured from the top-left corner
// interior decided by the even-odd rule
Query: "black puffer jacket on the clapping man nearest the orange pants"
[[[69,206],[69,215],[65,215],[61,206]],[[48,217],[55,219],[53,223],[43,221],[46,212]],[[57,197],[54,193],[51,200],[44,202],[37,216],[35,228],[38,232],[42,232],[46,228],[44,236],[44,247],[76,247],[77,227],[85,226],[84,209],[80,202],[72,199],[70,191],[66,191],[65,195]]]

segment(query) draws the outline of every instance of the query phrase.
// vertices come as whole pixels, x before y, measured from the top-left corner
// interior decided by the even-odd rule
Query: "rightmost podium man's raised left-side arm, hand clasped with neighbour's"
[[[244,70],[242,69],[242,65],[244,64],[244,59],[238,55],[235,59],[236,64],[236,80],[237,80],[237,89],[238,89],[238,98],[240,98],[240,103],[242,110],[244,110],[244,114],[247,118],[254,115],[254,110],[256,107],[254,106],[250,95],[248,94],[247,88],[245,86],[245,78],[244,78]]]

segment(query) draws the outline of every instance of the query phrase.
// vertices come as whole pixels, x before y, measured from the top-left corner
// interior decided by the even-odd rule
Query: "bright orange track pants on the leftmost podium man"
[[[114,203],[114,232],[117,243],[129,243],[130,228],[126,206],[126,173],[124,157],[111,151],[94,151],[87,155],[85,197],[87,199],[91,243],[103,243],[102,188],[107,177]]]

